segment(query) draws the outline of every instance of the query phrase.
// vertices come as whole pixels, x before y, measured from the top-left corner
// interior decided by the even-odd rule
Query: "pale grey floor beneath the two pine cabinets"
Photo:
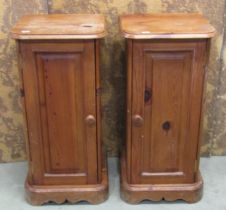
[[[109,159],[110,196],[99,205],[85,202],[79,204],[47,204],[31,206],[24,200],[23,182],[26,176],[26,162],[0,164],[0,210],[226,210],[226,157],[211,157],[201,159],[201,172],[204,178],[204,196],[195,204],[177,202],[142,202],[130,205],[120,199],[118,159]]]

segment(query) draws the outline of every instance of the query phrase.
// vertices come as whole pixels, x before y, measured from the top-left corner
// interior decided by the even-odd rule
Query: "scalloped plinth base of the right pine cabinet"
[[[125,158],[121,158],[121,198],[131,204],[137,204],[143,200],[151,201],[175,201],[184,200],[194,203],[201,199],[203,180],[201,174],[198,180],[192,184],[129,184],[127,182]]]

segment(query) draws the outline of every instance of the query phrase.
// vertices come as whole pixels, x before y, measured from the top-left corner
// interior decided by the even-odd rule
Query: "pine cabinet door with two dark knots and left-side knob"
[[[132,183],[195,179],[206,42],[134,41]]]

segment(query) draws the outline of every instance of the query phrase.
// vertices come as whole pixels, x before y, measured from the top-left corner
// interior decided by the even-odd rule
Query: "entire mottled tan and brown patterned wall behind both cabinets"
[[[203,155],[226,154],[225,0],[0,0],[0,161],[25,158],[24,124],[19,103],[15,44],[8,32],[33,13],[103,13],[108,36],[101,45],[103,139],[109,155],[124,140],[125,52],[118,16],[125,13],[201,12],[217,29],[208,68]]]

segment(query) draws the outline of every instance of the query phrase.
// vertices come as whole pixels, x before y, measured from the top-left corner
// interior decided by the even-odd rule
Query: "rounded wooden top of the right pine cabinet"
[[[125,38],[190,39],[210,38],[215,29],[197,13],[130,14],[120,17]]]

